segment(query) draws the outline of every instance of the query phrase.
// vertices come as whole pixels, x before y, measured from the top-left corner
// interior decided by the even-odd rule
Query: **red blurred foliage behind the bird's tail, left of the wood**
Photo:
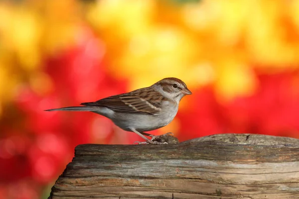
[[[34,180],[39,187],[48,184],[71,161],[76,145],[91,142],[90,121],[98,115],[45,112],[44,109],[78,105],[126,90],[126,81],[104,75],[105,48],[101,41],[89,29],[83,29],[81,34],[74,48],[59,52],[44,66],[56,90],[44,96],[23,86],[14,104],[18,114],[23,115],[19,122],[21,128],[9,124],[0,127],[4,132],[0,139],[0,197],[37,198],[39,193],[34,190],[30,193],[23,182]],[[14,129],[24,132],[13,132]],[[113,133],[112,128],[110,132]],[[9,192],[14,186],[24,192]],[[8,191],[1,193],[1,190]]]

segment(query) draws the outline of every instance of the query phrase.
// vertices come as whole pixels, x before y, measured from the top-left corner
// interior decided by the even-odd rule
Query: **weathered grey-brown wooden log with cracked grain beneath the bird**
[[[299,199],[299,140],[219,134],[168,145],[84,144],[49,199]]]

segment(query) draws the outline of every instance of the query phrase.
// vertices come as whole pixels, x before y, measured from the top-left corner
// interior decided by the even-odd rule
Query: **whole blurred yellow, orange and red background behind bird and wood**
[[[90,112],[45,112],[183,80],[154,134],[299,138],[298,0],[1,0],[0,199],[46,199],[83,143],[142,141]]]

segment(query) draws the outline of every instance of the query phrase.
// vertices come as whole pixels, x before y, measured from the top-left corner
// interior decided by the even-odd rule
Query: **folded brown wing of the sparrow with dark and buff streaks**
[[[151,98],[136,95],[137,92],[131,92],[128,94],[111,96],[95,102],[85,102],[81,104],[107,107],[116,112],[153,115],[161,111],[161,108],[159,107],[161,100],[157,99],[159,95],[153,95],[154,93],[152,92],[150,95]]]

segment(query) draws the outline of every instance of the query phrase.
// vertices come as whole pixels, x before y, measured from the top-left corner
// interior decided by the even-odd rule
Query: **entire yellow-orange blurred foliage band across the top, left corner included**
[[[214,85],[217,99],[225,102],[255,91],[256,69],[298,68],[298,0],[172,3],[0,2],[1,101],[9,100],[7,93],[23,81],[40,94],[46,93],[36,86],[40,82],[51,90],[41,72],[43,59],[80,42],[81,28],[88,25],[105,43],[108,72],[129,79],[128,90],[177,77],[191,90]]]

